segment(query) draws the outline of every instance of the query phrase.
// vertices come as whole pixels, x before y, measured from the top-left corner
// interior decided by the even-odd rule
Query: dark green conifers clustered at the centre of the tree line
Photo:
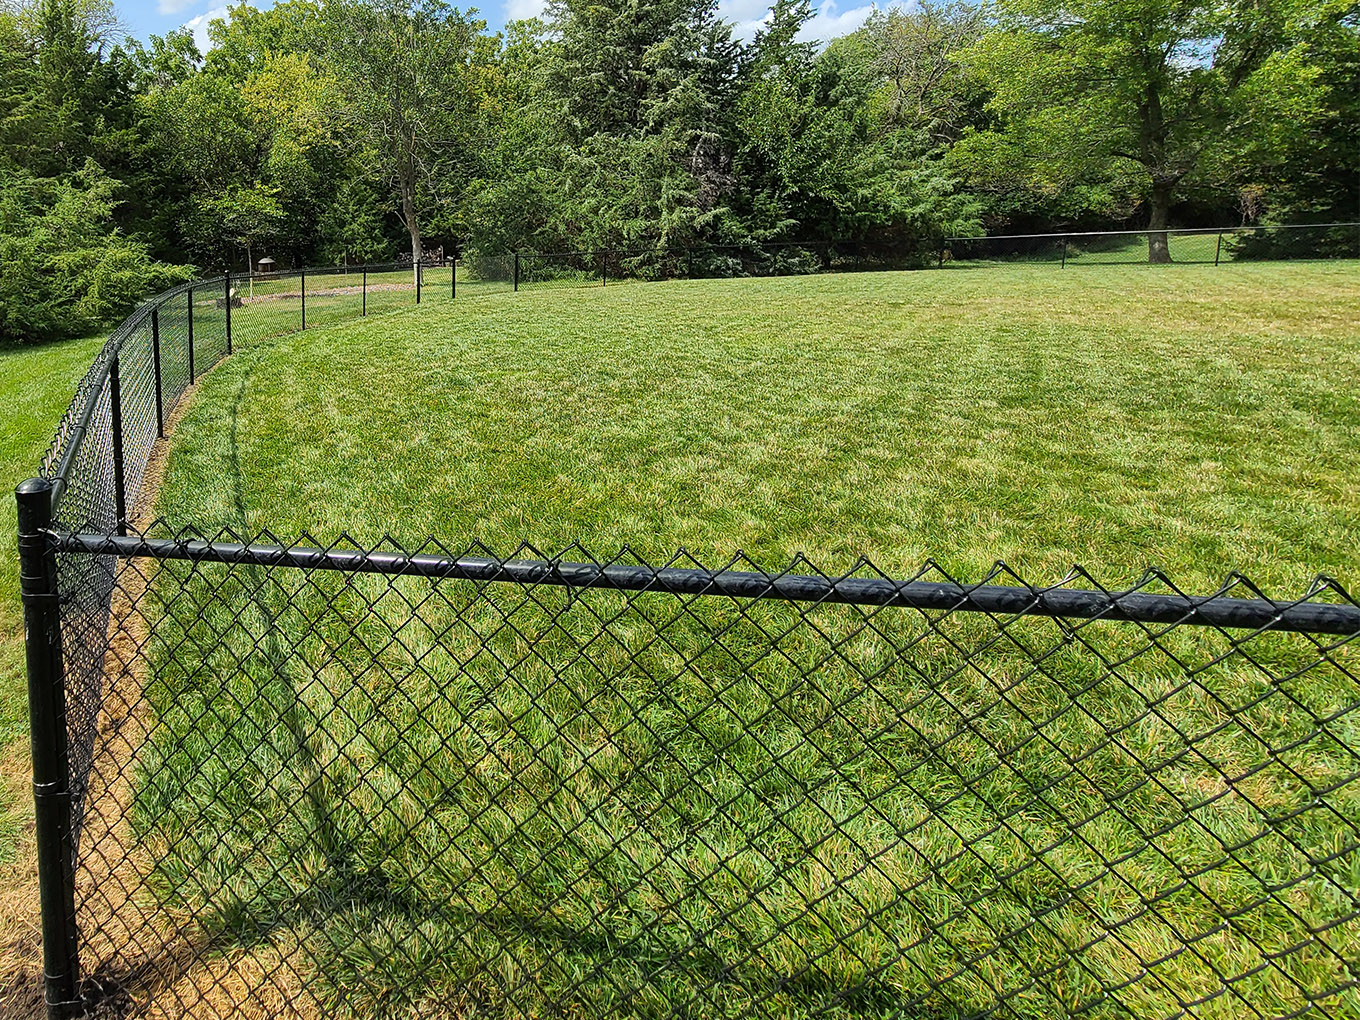
[[[515,30],[475,249],[835,238],[902,252],[976,227],[921,132],[888,116],[872,56],[800,41],[804,0],[775,3],[751,44],[707,3],[634,14],[563,1]]]

